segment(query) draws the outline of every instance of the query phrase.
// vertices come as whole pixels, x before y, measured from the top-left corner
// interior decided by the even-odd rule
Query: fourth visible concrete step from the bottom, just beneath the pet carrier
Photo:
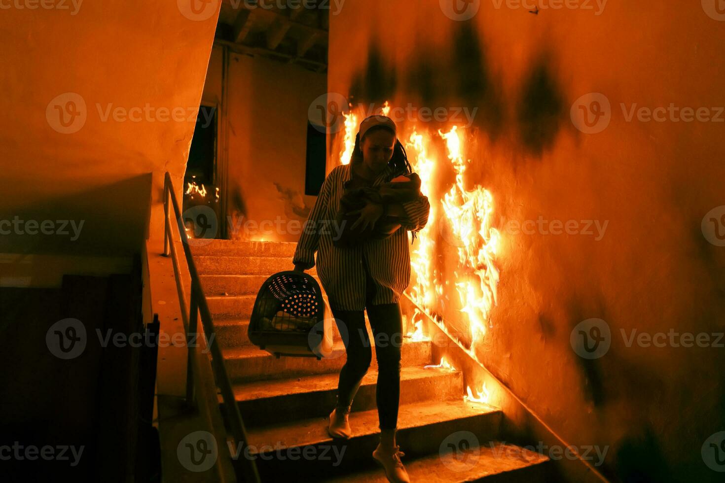
[[[377,367],[375,347],[370,369]],[[316,374],[334,374],[345,364],[345,348],[338,341],[331,356],[318,361],[314,357],[276,358],[266,350],[255,345],[239,348],[223,348],[224,359],[229,378],[233,382],[252,382],[263,379],[289,379]],[[431,341],[412,342],[405,340],[402,345],[401,365],[424,366],[431,364]]]

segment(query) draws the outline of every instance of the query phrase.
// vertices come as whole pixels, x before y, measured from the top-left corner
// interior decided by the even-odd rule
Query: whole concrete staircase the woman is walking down
[[[339,334],[331,357],[321,361],[278,359],[247,337],[257,291],[269,275],[292,269],[295,247],[215,240],[193,248],[247,425],[247,457],[256,459],[263,482],[385,482],[371,457],[379,433],[374,353],[352,406],[353,436],[337,441],[328,436],[326,425],[345,361]],[[317,278],[315,269],[309,273]],[[368,332],[372,338],[369,327]],[[499,409],[463,400],[463,374],[424,368],[430,364],[436,364],[431,342],[406,339],[397,441],[413,482],[548,481],[548,458],[497,441],[503,418]],[[479,445],[469,444],[471,433]]]

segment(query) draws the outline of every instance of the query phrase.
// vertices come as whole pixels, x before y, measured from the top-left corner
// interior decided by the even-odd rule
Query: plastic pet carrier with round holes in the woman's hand
[[[249,318],[249,340],[276,357],[327,357],[332,319],[318,282],[303,272],[279,272],[257,294]]]

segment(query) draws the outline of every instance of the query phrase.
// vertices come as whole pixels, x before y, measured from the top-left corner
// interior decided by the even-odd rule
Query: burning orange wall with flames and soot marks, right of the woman
[[[418,305],[564,440],[608,448],[608,478],[715,481],[717,2],[529,3],[332,16],[328,91],[346,107],[330,162],[365,116],[399,122],[431,200],[410,248]]]

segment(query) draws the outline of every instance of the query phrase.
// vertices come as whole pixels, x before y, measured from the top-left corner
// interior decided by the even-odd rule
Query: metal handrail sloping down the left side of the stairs
[[[169,201],[171,203],[169,203]],[[186,301],[186,292],[183,288],[183,282],[181,281],[181,269],[178,264],[178,256],[176,253],[176,247],[173,240],[173,230],[169,219],[169,204],[173,207],[173,214],[176,219],[176,227],[178,229],[179,237],[183,243],[183,251],[186,256],[186,264],[188,265],[188,273],[191,276],[191,302]],[[198,339],[196,335],[197,321],[199,315],[202,319],[202,328],[204,329],[204,336],[208,342],[208,349],[211,352],[211,369],[215,379],[215,385],[221,391],[222,399],[224,401],[225,413],[228,424],[230,426],[231,436],[236,443],[234,448],[241,449],[238,452],[239,455],[243,455],[244,446],[247,445],[247,429],[244,427],[244,421],[241,419],[241,413],[239,412],[239,406],[234,398],[234,391],[229,380],[229,376],[224,365],[224,357],[222,351],[215,341],[217,340],[216,333],[214,330],[214,324],[212,322],[212,315],[209,311],[209,305],[207,303],[207,297],[204,295],[202,289],[202,283],[199,280],[199,272],[196,270],[196,264],[194,263],[194,257],[191,256],[191,247],[188,243],[188,236],[186,235],[186,226],[181,217],[181,210],[179,209],[178,201],[173,188],[173,182],[171,181],[171,175],[166,172],[164,177],[164,256],[171,256],[173,261],[174,275],[176,279],[176,289],[178,291],[179,303],[181,304],[181,316],[183,318],[184,326],[186,328],[187,341]],[[186,307],[189,307],[188,313]],[[191,405],[194,405],[194,366],[200,364],[196,358],[196,344],[187,344],[188,348],[188,364],[186,366],[186,400]],[[208,357],[205,357],[206,361],[209,361]],[[200,367],[197,367],[197,373],[202,371]],[[216,398],[214,394],[214,398]],[[218,407],[218,406],[217,406]],[[220,450],[220,453],[224,453]],[[230,455],[231,457],[231,455]],[[260,482],[260,475],[257,472],[257,465],[251,458],[239,458],[239,469],[236,470],[237,481],[244,482]],[[240,478],[243,476],[243,479]]]

